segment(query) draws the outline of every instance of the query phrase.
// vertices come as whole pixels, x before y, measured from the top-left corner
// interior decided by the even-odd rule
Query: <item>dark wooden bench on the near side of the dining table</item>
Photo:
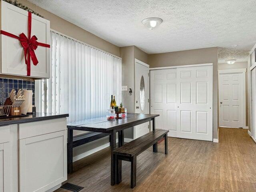
[[[136,158],[139,154],[144,152],[150,146],[156,144],[159,140],[164,138],[165,154],[168,154],[168,142],[167,133],[169,130],[155,130],[149,132],[128,144],[125,144],[113,151],[116,154],[116,183],[119,184],[122,181],[122,175],[119,174],[119,161],[131,162],[131,188],[136,186]],[[157,151],[156,151],[157,152]]]

